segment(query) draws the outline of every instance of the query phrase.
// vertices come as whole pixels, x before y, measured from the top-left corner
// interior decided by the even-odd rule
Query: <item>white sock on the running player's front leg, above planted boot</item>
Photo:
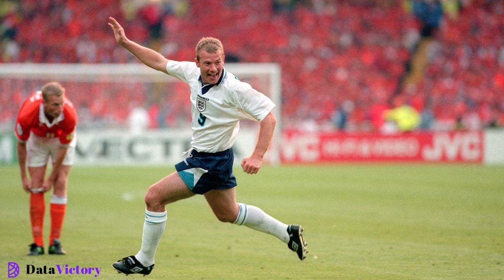
[[[154,263],[154,255],[166,227],[166,213],[166,210],[164,212],[150,212],[145,209],[142,248],[135,255],[144,266],[150,266]]]

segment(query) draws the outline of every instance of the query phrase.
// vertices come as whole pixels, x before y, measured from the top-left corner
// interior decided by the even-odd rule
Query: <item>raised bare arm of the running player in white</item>
[[[128,39],[124,33],[124,29],[114,18],[108,18],[108,25],[114,31],[115,40],[119,43],[119,45],[135,55],[135,57],[137,57],[138,60],[142,61],[145,65],[156,69],[157,71],[166,73],[166,63],[168,63],[168,59],[166,59],[162,54]]]

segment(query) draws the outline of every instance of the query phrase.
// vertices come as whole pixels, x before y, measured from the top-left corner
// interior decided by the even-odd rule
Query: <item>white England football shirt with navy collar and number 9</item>
[[[191,146],[198,152],[216,153],[231,148],[240,119],[262,121],[275,107],[271,99],[226,69],[215,85],[203,85],[196,62],[169,60],[166,71],[191,87]]]

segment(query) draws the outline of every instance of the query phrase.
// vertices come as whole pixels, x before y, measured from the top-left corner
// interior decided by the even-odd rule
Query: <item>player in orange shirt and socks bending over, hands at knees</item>
[[[15,132],[23,189],[30,194],[30,219],[34,243],[28,255],[44,253],[44,193],[53,187],[50,199],[49,254],[65,254],[59,241],[67,206],[67,181],[74,162],[77,113],[59,83],[45,84],[28,98],[18,114]],[[44,180],[47,162],[52,169]],[[26,175],[26,166],[30,179]]]

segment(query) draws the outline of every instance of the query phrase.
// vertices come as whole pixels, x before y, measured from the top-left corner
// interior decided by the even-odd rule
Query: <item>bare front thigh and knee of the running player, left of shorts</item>
[[[194,193],[187,188],[178,173],[173,172],[150,186],[145,195],[145,200],[147,204],[151,204],[153,208],[160,210],[160,207],[164,209],[164,205],[168,203],[193,195]]]

